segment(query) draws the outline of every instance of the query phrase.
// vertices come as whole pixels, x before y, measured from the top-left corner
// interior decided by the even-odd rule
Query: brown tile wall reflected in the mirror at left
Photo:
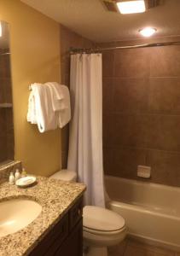
[[[9,50],[6,49],[5,52],[7,51]],[[1,103],[12,103],[9,55],[0,55]],[[0,105],[0,162],[14,160],[14,148],[13,108],[2,108]]]

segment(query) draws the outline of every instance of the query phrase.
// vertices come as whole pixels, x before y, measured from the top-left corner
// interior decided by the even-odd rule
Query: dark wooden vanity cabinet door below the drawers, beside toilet
[[[72,234],[61,245],[55,256],[83,256],[83,221],[82,218],[72,230]]]

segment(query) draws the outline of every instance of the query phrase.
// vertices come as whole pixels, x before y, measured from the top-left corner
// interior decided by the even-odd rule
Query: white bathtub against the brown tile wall
[[[125,218],[129,234],[180,251],[180,188],[105,177],[108,207]]]

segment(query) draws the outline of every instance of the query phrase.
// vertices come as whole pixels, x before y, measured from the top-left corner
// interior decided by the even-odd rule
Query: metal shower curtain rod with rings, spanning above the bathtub
[[[136,44],[136,45],[125,45],[125,46],[113,46],[107,48],[70,48],[70,54],[77,53],[93,53],[93,52],[101,52],[103,50],[111,50],[111,49],[136,49],[136,48],[145,48],[145,47],[156,47],[156,46],[168,46],[168,45],[180,45],[180,41],[177,42],[166,42],[166,43],[151,43],[151,44]]]

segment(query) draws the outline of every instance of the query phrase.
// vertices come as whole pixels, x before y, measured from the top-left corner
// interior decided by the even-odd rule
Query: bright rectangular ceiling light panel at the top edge
[[[122,15],[143,13],[146,10],[144,0],[124,1],[116,4]]]

